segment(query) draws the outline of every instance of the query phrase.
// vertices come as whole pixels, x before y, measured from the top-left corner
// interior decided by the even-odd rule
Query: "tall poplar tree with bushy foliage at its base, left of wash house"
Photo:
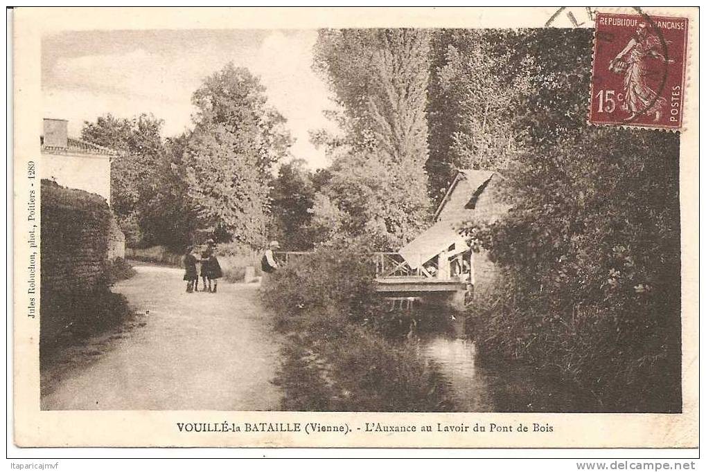
[[[340,107],[330,117],[341,129],[313,135],[333,160],[314,205],[317,233],[330,239],[373,231],[379,246],[399,246],[429,221],[429,33],[321,30],[315,54]]]

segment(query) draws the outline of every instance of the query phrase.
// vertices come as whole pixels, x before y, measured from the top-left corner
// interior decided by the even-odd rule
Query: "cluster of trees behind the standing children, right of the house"
[[[119,152],[111,200],[128,246],[182,250],[214,237],[261,247],[272,169],[291,144],[285,120],[259,79],[232,64],[205,79],[193,104],[193,131],[174,138],[163,139],[162,120],[146,114],[84,125],[84,140]]]

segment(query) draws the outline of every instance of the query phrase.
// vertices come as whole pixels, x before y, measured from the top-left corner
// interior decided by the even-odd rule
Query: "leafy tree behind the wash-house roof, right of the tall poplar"
[[[503,170],[517,157],[522,102],[534,54],[514,30],[441,30],[430,84],[430,194],[443,197],[457,169]],[[520,54],[527,53],[527,54]]]

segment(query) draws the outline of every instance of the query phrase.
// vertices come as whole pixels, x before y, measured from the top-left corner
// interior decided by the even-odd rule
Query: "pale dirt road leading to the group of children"
[[[187,294],[182,270],[136,265],[116,284],[137,315],[43,373],[42,409],[272,410],[280,338],[256,284]]]

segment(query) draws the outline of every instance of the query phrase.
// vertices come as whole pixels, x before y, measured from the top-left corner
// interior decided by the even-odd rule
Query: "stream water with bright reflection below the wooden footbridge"
[[[445,332],[419,339],[420,353],[438,366],[458,411],[592,411],[592,400],[561,380],[534,370],[484,361],[466,334],[463,317]]]

